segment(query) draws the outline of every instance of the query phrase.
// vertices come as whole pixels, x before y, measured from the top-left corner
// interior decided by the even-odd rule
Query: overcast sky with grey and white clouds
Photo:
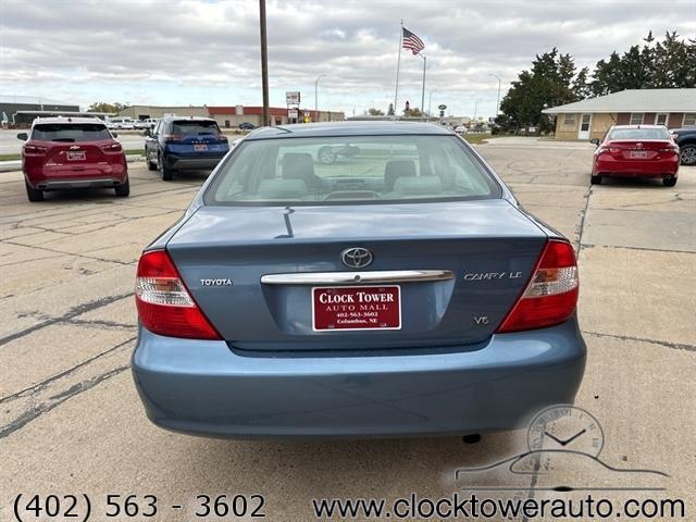
[[[88,105],[261,104],[257,0],[0,0],[0,92]],[[300,90],[321,109],[362,114],[394,100],[399,21],[425,42],[425,108],[493,115],[536,53],[580,65],[623,52],[649,29],[696,38],[696,0],[268,0],[271,104]],[[401,53],[399,105],[421,104],[423,62]],[[476,103],[476,100],[477,103]]]

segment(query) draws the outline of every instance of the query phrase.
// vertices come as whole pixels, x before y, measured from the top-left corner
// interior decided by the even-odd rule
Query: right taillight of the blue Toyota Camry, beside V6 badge
[[[550,239],[524,294],[498,326],[498,333],[562,323],[577,304],[577,265],[570,243]]]

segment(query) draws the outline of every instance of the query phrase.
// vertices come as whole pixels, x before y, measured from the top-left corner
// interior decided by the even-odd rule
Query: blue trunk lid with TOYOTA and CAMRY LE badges
[[[487,339],[522,293],[546,239],[519,209],[493,199],[203,207],[166,248],[194,299],[235,348],[374,350]],[[343,264],[341,252],[352,247],[370,250],[372,264]],[[315,331],[312,288],[332,285],[261,282],[271,274],[383,271],[443,271],[451,276],[341,285],[398,291],[399,327],[369,331]],[[391,286],[399,289],[384,290]]]

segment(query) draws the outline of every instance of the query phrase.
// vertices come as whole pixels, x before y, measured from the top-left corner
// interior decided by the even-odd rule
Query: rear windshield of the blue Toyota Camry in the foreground
[[[456,136],[243,140],[208,204],[393,203],[500,196]]]

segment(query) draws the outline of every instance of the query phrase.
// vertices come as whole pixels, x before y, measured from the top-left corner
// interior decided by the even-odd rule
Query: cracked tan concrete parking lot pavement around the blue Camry
[[[649,494],[682,498],[696,517],[696,167],[682,166],[673,188],[591,187],[592,147],[500,140],[478,150],[530,211],[579,248],[588,360],[577,405],[601,423],[601,460],[663,471],[664,490]],[[204,178],[164,183],[138,162],[129,198],[104,190],[29,203],[22,174],[0,174],[0,520],[18,493],[151,494],[161,508],[150,520],[166,521],[191,520],[198,494],[261,494],[269,520],[311,520],[312,498],[448,496],[482,484],[455,481],[455,469],[524,449],[524,430],[464,445],[236,442],[152,426],[128,371],[135,265]],[[555,480],[645,486],[639,474],[599,476],[575,464],[555,464]],[[522,495],[585,495],[544,492],[543,475],[492,480]],[[626,495],[648,493],[606,494]]]

